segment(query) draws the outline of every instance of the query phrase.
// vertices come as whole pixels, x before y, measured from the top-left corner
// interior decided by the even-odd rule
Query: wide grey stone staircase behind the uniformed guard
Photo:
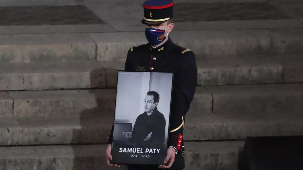
[[[117,70],[131,47],[147,43],[141,3],[0,0],[84,4],[105,22],[0,26],[0,170],[113,169],[104,152]],[[303,135],[303,17],[286,2],[268,3],[277,8],[272,15],[289,18],[256,8],[251,15],[268,18],[178,21],[170,33],[197,59],[198,87],[185,117],[188,170],[240,170],[247,136]]]

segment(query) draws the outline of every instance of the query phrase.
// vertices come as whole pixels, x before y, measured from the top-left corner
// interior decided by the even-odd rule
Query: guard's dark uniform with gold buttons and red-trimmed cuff
[[[163,2],[163,0],[160,1]],[[145,13],[149,15],[149,12]],[[174,44],[170,37],[167,38],[164,44],[156,48],[148,43],[129,49],[125,71],[174,72],[168,146],[176,148],[177,152],[175,162],[170,169],[183,169],[185,168],[183,152],[185,114],[197,86],[197,66],[195,54],[192,51]],[[108,137],[108,144],[112,144],[112,134],[113,128]],[[148,169],[148,167],[142,169]]]

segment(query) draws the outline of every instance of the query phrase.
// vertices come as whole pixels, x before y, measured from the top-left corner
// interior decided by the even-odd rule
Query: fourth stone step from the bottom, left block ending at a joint
[[[105,88],[106,73],[96,61],[0,64],[0,90]]]

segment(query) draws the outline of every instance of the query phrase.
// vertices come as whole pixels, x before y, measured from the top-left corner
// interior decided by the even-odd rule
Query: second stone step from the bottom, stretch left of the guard
[[[0,145],[105,144],[112,116],[1,118]]]

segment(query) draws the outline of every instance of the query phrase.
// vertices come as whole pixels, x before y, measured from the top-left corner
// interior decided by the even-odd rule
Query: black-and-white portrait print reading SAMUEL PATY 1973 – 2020
[[[112,163],[164,165],[173,73],[118,71]]]

